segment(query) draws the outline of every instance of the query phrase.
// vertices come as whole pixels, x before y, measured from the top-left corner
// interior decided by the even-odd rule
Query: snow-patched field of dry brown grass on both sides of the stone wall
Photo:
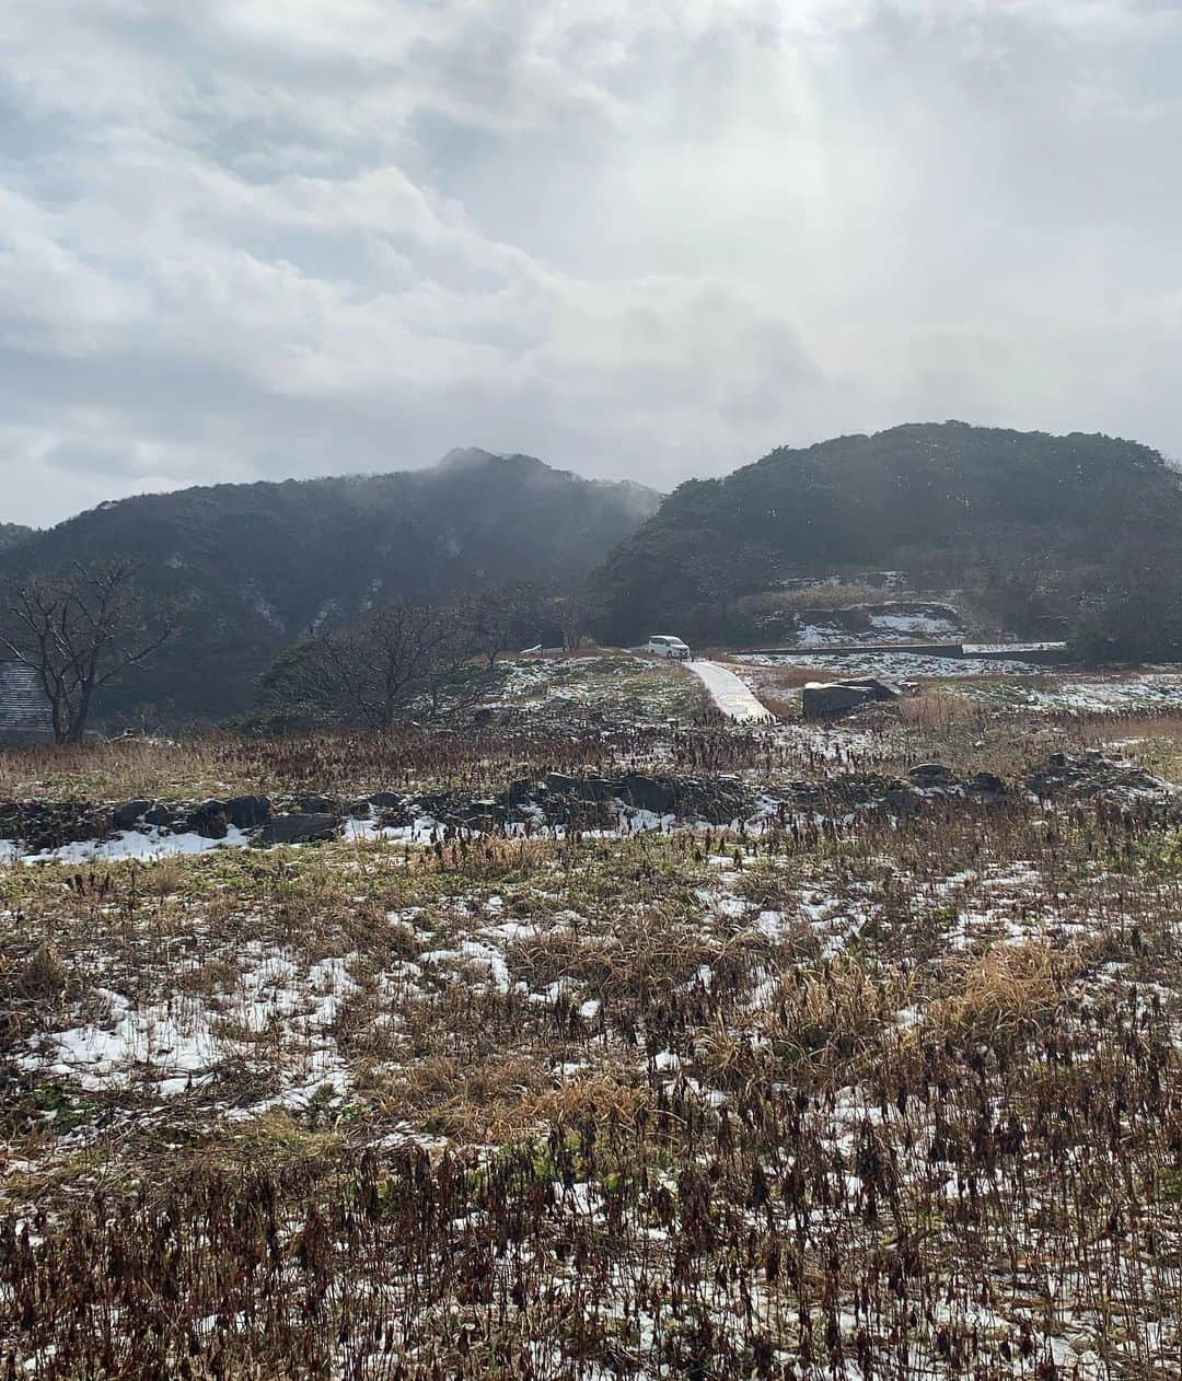
[[[1179,742],[932,692],[834,729],[0,773],[345,793],[659,761],[758,790]],[[0,1374],[1179,1375],[1176,822],[1015,790],[0,869]]]

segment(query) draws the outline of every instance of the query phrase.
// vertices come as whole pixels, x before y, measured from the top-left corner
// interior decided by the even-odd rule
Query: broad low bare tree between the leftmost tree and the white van
[[[389,729],[416,714],[442,720],[476,704],[494,679],[474,660],[478,650],[471,610],[399,599],[353,628],[291,649],[264,689],[284,704]]]

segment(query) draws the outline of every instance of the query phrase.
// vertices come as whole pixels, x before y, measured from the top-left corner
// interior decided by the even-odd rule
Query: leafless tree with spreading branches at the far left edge
[[[37,673],[58,743],[81,743],[95,696],[175,632],[175,621],[144,601],[138,572],[134,561],[75,562],[7,592],[0,646]]]

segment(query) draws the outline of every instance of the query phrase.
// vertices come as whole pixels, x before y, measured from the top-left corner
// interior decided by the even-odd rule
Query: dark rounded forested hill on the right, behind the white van
[[[597,583],[614,638],[657,624],[707,637],[725,635],[735,599],[786,576],[860,566],[956,584],[983,562],[1040,562],[1048,587],[1087,602],[1150,552],[1176,565],[1181,540],[1179,475],[1146,446],[910,424],[682,485]]]

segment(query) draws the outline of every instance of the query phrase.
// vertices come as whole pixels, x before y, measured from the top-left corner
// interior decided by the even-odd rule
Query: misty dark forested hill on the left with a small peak
[[[102,504],[0,547],[0,576],[142,558],[144,584],[180,601],[186,626],[122,703],[221,718],[244,708],[260,671],[311,628],[398,595],[447,599],[508,580],[581,577],[659,501],[530,456],[456,450],[423,471]]]

